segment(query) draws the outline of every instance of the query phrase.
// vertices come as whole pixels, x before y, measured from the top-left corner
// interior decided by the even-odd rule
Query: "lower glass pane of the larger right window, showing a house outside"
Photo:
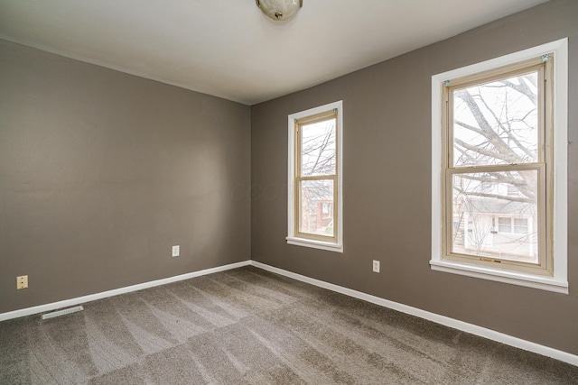
[[[537,263],[537,178],[537,170],[454,174],[452,252]]]

